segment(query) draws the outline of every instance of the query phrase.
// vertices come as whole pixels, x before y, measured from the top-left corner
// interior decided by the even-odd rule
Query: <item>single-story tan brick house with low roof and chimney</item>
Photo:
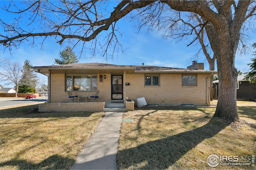
[[[68,104],[67,91],[71,91],[78,96],[74,103],[101,103],[100,110],[106,102],[124,102],[126,105],[126,99],[137,106],[137,99],[142,97],[148,105],[207,106],[212,85],[210,76],[217,74],[204,70],[204,63],[196,62],[188,68],[86,63],[35,66],[32,69],[48,76],[48,105]],[[90,98],[86,98],[86,102],[80,98],[78,102],[79,97],[91,96],[96,90],[100,91],[96,102]]]

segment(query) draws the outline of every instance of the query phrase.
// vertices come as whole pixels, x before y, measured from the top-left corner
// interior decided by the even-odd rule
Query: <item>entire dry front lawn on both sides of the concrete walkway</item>
[[[217,103],[216,101],[212,102]],[[215,108],[158,107],[123,113],[119,169],[255,169],[206,163],[210,154],[256,154],[256,103],[238,101],[240,121]],[[69,169],[103,112],[38,113],[37,105],[0,110],[0,169]]]

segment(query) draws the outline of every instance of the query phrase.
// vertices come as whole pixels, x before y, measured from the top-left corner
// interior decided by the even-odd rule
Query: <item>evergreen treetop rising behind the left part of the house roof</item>
[[[78,58],[72,51],[71,47],[67,46],[63,51],[60,52],[60,59],[55,59],[55,64],[74,64],[78,63]]]

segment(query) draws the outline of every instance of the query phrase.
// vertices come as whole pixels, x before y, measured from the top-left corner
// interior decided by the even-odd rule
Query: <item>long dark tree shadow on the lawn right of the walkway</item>
[[[229,124],[222,119],[212,118],[202,127],[121,150],[118,152],[118,169],[131,166],[135,169],[166,169],[204,139],[218,134],[227,125]]]

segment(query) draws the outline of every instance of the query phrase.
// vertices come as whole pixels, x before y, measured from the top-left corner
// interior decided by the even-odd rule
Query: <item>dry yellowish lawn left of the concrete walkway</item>
[[[104,115],[36,107],[0,110],[0,169],[69,169]]]

